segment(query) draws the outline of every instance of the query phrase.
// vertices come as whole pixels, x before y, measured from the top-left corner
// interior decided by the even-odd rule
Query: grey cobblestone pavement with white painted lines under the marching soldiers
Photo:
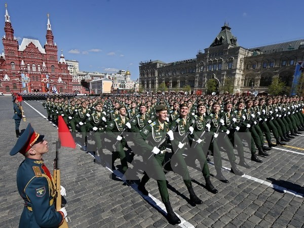
[[[50,151],[44,156],[52,169],[55,156],[57,128],[44,119],[46,115],[40,101],[23,101],[27,123],[46,135]],[[30,106],[29,106],[29,105]],[[0,227],[17,227],[23,209],[23,201],[16,187],[16,172],[23,156],[10,156],[9,151],[16,142],[14,131],[13,103],[11,97],[0,97],[0,146],[3,148],[0,161]],[[34,108],[34,109],[33,109]],[[40,113],[39,113],[40,112]],[[304,225],[304,136],[298,136],[288,143],[270,151],[270,157],[263,163],[250,161],[250,169],[240,167],[246,175],[236,176],[229,172],[230,164],[222,153],[224,176],[229,183],[222,183],[214,177],[213,185],[218,194],[205,189],[205,180],[200,166],[189,167],[193,185],[198,197],[204,203],[195,207],[188,200],[188,193],[182,178],[170,172],[166,175],[169,184],[170,201],[173,210],[182,218],[182,227],[302,227]],[[104,153],[110,157],[109,151]],[[211,157],[212,159],[212,157]],[[237,157],[238,159],[238,157]],[[142,160],[135,156],[137,173],[141,178]],[[213,159],[212,159],[213,161]],[[115,163],[119,167],[119,160]],[[132,165],[130,165],[132,167]],[[211,174],[215,169],[210,164]],[[94,158],[79,146],[76,149],[60,149],[61,184],[67,191],[69,227],[170,227],[164,217],[164,205],[160,199],[157,182],[150,180],[146,188],[150,197],[143,198],[137,191],[137,184],[126,185],[110,169],[94,163]],[[226,171],[225,171],[226,170]],[[135,181],[138,183],[138,181]]]

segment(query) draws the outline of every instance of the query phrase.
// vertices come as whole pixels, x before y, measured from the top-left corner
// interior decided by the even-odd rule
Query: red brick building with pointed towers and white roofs
[[[4,31],[4,52],[0,56],[0,92],[51,92],[55,88],[58,92],[74,92],[72,75],[69,74],[62,53],[58,61],[58,47],[54,43],[49,15],[44,47],[38,40],[27,38],[18,44],[7,5]]]

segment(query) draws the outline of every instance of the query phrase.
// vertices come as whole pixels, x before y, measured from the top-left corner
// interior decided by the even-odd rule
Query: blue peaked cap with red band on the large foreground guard
[[[40,142],[44,138],[44,135],[40,135],[34,131],[31,124],[29,123],[25,131],[18,138],[15,146],[10,151],[10,155],[16,155],[18,152],[22,155],[25,155],[26,151],[35,144],[35,142]]]

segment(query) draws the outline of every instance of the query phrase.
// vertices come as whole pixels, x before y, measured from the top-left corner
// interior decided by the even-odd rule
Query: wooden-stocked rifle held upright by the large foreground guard
[[[55,195],[55,204],[56,204],[56,211],[59,211],[62,208],[62,199],[60,195],[60,169],[59,169],[59,148],[60,148],[60,141],[56,141],[56,156],[54,159],[54,172],[53,172],[53,179],[56,188],[56,195]],[[68,228],[66,218],[63,219],[63,223],[59,226],[60,228]]]

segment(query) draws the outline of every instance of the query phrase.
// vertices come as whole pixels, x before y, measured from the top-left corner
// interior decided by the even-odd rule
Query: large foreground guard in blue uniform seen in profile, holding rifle
[[[49,145],[43,138],[28,124],[10,151],[12,156],[19,152],[25,157],[17,171],[18,192],[24,200],[19,227],[58,227],[67,215],[64,207],[55,210],[55,184],[42,159]],[[60,194],[66,195],[62,186]]]

